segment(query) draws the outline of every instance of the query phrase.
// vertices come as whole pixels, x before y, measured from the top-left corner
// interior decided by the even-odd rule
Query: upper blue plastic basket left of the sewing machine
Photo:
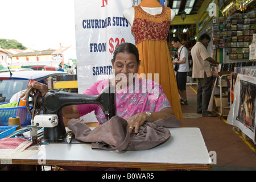
[[[20,126],[26,127],[31,125],[32,115],[28,113],[26,106],[21,106],[0,108],[0,126],[8,126],[9,118],[14,115],[19,117]]]

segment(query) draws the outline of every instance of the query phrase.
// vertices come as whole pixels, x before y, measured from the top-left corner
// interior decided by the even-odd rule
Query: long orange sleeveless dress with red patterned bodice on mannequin
[[[131,31],[141,60],[138,73],[145,73],[147,78],[162,85],[175,117],[183,121],[176,76],[167,45],[171,10],[163,6],[161,14],[151,15],[143,11],[141,6],[133,7],[135,15]],[[148,77],[148,73],[152,78]],[[158,78],[154,77],[154,73],[158,73]]]

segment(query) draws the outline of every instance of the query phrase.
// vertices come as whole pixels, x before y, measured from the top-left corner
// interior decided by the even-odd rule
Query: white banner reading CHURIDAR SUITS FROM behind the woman
[[[79,93],[94,82],[113,78],[115,47],[123,42],[135,44],[131,26],[123,17],[123,10],[132,5],[132,0],[75,0]],[[94,113],[91,116],[95,122]]]

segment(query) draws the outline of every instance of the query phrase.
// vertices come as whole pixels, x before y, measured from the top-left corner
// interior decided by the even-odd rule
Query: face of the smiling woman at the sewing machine
[[[135,73],[138,73],[139,64],[137,63],[136,56],[133,53],[119,52],[115,56],[115,61],[112,60],[112,65],[115,73],[115,80],[122,81],[123,84],[129,84]]]

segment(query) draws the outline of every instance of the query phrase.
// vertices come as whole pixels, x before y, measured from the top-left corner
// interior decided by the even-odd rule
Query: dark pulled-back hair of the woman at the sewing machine
[[[119,52],[127,52],[127,53],[133,53],[136,56],[137,63],[139,64],[139,51],[134,44],[125,42],[122,44],[119,44],[114,51],[113,55],[113,61],[115,61],[115,56],[117,56],[117,53]]]

